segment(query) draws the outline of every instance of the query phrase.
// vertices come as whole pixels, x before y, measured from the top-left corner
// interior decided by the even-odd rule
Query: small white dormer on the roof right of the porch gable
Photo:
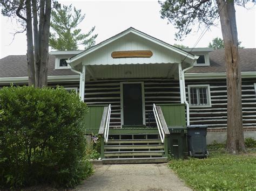
[[[209,52],[213,50],[213,48],[184,48],[184,51],[199,56],[194,66],[210,66]]]

